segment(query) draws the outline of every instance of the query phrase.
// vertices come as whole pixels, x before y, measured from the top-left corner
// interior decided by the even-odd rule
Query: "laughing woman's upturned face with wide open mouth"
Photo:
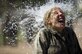
[[[53,29],[62,31],[65,28],[65,16],[61,9],[53,9],[49,20]]]

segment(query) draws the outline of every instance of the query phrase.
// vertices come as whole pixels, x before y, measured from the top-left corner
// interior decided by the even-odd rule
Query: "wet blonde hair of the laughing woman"
[[[44,15],[44,25],[46,26],[46,27],[51,27],[51,24],[49,24],[48,22],[49,22],[49,19],[50,19],[50,15],[51,15],[51,12],[53,11],[53,10],[61,10],[60,9],[60,7],[53,7],[53,8],[51,8],[50,10],[48,10],[46,13],[45,13],[45,15]],[[61,10],[62,11],[62,10]],[[63,12],[63,11],[62,11]]]

